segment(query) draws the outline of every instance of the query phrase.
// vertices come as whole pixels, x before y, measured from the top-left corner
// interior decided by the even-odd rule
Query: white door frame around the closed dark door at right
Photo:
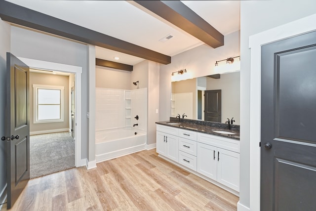
[[[250,210],[260,211],[261,45],[316,30],[316,14],[249,37],[250,60]]]

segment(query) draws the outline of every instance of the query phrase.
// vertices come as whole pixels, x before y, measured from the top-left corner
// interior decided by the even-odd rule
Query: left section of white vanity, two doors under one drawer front
[[[157,125],[156,152],[178,162],[178,128]]]

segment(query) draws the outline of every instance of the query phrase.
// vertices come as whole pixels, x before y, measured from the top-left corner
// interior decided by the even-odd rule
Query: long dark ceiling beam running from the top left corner
[[[0,0],[0,17],[3,21],[8,21],[72,40],[104,47],[161,64],[171,63],[170,56],[130,42],[119,40],[5,0]]]

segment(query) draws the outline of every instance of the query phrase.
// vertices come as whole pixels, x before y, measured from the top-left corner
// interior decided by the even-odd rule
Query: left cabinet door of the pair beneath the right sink
[[[216,180],[217,148],[211,145],[197,143],[197,172]]]

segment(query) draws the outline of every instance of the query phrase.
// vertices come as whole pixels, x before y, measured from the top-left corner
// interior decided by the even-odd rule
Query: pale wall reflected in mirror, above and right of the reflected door
[[[240,72],[222,74],[220,79],[206,78],[206,90],[222,90],[222,123],[234,117],[234,125],[240,125]]]

